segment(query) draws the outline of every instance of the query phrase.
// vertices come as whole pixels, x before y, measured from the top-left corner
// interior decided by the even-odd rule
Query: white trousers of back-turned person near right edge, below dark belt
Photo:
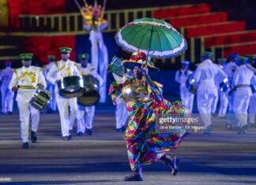
[[[235,113],[235,117],[239,120],[240,127],[243,127],[247,124],[247,110],[249,107],[251,96],[250,87],[239,87],[235,91],[234,102],[233,102],[233,110]]]

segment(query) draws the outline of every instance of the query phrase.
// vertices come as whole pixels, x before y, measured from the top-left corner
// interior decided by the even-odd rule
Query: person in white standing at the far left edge
[[[6,68],[0,72],[1,94],[2,94],[2,113],[13,113],[13,96],[14,93],[9,89],[9,83],[12,80],[13,68],[11,61],[6,61]]]

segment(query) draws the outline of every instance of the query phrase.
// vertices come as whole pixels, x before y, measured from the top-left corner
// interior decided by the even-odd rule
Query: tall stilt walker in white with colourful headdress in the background
[[[84,28],[90,31],[89,40],[92,43],[91,56],[92,66],[98,71],[100,68],[100,76],[104,83],[100,93],[100,102],[106,102],[107,97],[107,64],[108,53],[104,44],[102,32],[107,28],[107,20],[104,20],[104,7],[98,6],[95,1],[94,6],[85,6],[83,8],[83,16],[85,18]]]

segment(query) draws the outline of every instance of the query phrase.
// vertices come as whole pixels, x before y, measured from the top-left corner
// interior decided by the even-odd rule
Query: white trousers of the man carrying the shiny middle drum
[[[61,120],[62,136],[69,136],[70,123],[73,124],[77,118],[77,98],[62,98],[58,93],[55,93],[55,95]]]

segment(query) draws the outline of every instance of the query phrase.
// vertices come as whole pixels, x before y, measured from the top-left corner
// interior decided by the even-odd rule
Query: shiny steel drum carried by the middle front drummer
[[[58,93],[64,98],[80,97],[84,93],[82,76],[66,76],[57,81]]]

